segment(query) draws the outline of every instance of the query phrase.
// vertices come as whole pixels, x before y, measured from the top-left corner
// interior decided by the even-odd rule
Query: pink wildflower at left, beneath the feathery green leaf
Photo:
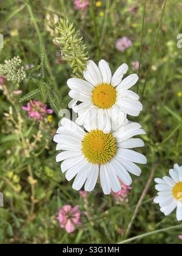
[[[53,113],[52,109],[47,109],[47,105],[35,100],[28,102],[27,107],[22,107],[22,109],[29,112],[29,118],[35,118],[35,121],[42,120],[46,113]]]

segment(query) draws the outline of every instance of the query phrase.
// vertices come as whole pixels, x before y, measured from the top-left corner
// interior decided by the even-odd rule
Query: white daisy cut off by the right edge
[[[170,177],[155,179],[158,183],[155,188],[159,192],[154,202],[160,205],[161,212],[166,216],[177,208],[177,220],[182,221],[182,166],[175,164],[169,174]]]

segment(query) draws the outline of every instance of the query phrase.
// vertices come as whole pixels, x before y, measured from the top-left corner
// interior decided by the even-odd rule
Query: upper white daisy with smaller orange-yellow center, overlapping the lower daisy
[[[69,107],[78,113],[77,124],[90,124],[93,120],[98,121],[101,116],[109,120],[112,128],[115,128],[123,123],[126,114],[140,114],[143,106],[138,101],[139,96],[129,90],[138,81],[138,76],[130,74],[123,79],[127,69],[128,66],[124,63],[112,76],[109,64],[105,60],[100,60],[98,66],[89,60],[87,70],[83,73],[86,80],[67,80],[67,85],[71,89],[69,96],[73,99]],[[76,105],[78,101],[82,103]]]

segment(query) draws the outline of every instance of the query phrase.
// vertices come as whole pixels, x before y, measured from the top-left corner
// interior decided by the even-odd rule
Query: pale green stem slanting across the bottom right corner
[[[175,230],[175,229],[181,229],[181,228],[182,228],[182,224],[181,225],[176,225],[176,226],[171,226],[171,227],[166,227],[165,229],[158,229],[158,230],[155,230],[155,231],[152,231],[152,232],[144,233],[142,235],[133,236],[132,238],[121,241],[118,244],[127,244],[127,243],[130,243],[130,242],[135,241],[137,239],[144,238],[144,237],[149,236],[149,235],[155,235],[157,233],[167,232],[169,230]]]

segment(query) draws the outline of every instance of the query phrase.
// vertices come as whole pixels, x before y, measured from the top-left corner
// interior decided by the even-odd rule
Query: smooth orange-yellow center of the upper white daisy
[[[116,102],[116,89],[112,85],[97,85],[92,94],[93,103],[99,108],[110,108]]]

